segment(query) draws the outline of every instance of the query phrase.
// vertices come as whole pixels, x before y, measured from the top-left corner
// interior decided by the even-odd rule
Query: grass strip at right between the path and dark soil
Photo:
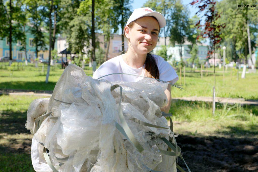
[[[258,138],[258,106],[216,104],[212,115],[212,103],[173,101],[175,133],[193,136],[222,136],[234,138]]]

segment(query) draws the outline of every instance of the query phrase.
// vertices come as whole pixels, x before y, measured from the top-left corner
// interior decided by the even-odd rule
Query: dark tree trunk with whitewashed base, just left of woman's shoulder
[[[91,36],[92,36],[92,61],[93,61],[93,66],[92,66],[92,72],[94,73],[96,71],[96,56],[95,56],[95,0],[92,0],[92,10],[91,10]]]

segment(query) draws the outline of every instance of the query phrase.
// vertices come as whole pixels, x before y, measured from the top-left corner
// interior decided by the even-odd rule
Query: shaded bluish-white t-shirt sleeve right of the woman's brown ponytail
[[[154,57],[157,59],[156,62],[159,69],[159,79],[166,82],[170,81],[172,84],[178,81],[178,74],[176,74],[174,68],[162,57],[158,55],[154,55]]]

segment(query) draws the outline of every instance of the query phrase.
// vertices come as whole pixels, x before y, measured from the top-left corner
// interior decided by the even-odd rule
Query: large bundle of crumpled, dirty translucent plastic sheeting
[[[111,92],[114,84],[123,88],[121,108],[129,128],[144,148],[141,153],[115,127],[116,122],[120,123],[120,90]],[[172,166],[175,157],[159,151],[167,150],[159,137],[168,139],[171,131],[137,123],[140,120],[169,128],[160,110],[167,104],[164,93],[167,85],[151,79],[136,83],[95,80],[86,76],[80,67],[68,65],[48,107],[40,105],[47,99],[34,100],[27,113],[26,127],[30,130],[35,117],[44,114],[46,109],[47,113],[52,112],[51,116],[58,117],[46,117],[33,137],[31,158],[35,171],[52,171],[44,160],[44,147],[49,150],[54,166],[63,164],[59,171],[176,171],[175,164]]]

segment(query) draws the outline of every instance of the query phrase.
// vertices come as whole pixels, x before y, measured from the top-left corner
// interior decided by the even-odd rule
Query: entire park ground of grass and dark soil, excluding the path
[[[185,91],[172,88],[172,97],[212,96],[212,72],[204,72],[201,78],[200,72],[186,70],[186,84],[182,79]],[[84,71],[92,76],[91,68]],[[42,70],[42,65],[35,68],[19,64],[18,68],[17,64],[0,64],[0,89],[51,91],[62,72],[60,66],[52,67],[46,84],[46,66]],[[223,73],[216,74],[216,96],[258,100],[258,74],[247,73],[241,79],[237,72],[229,68],[224,77]],[[28,106],[37,98],[44,96],[0,96],[2,171],[34,171],[30,158],[32,134],[25,123]],[[210,102],[177,100],[172,102],[170,113],[182,156],[192,171],[258,171],[258,106],[216,104],[212,115]],[[180,159],[178,162],[186,170]]]

